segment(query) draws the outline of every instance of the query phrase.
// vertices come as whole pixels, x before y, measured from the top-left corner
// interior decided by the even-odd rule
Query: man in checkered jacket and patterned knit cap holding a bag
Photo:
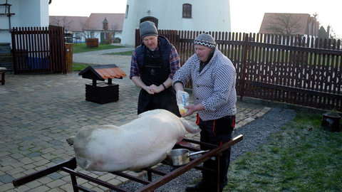
[[[184,92],[184,85],[192,79],[194,105],[187,105],[182,117],[197,112],[200,141],[221,146],[232,139],[237,114],[236,72],[234,65],[216,48],[214,38],[202,33],[195,38],[195,54],[177,71],[172,82],[177,96]],[[178,98],[177,98],[178,99]],[[207,146],[201,146],[207,150]],[[202,171],[202,180],[188,186],[186,191],[223,191],[227,185],[230,148],[219,157],[219,178],[216,173]],[[204,161],[207,169],[217,169],[217,161]],[[219,183],[217,183],[219,179]]]

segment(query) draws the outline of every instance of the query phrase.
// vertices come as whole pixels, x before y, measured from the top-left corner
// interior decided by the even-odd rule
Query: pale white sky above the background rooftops
[[[49,5],[49,15],[124,14],[126,4],[127,0],[52,0]],[[342,38],[341,11],[341,0],[230,0],[232,32],[258,33],[264,13],[310,14],[311,16],[316,13],[320,26],[326,28],[330,25],[336,36]]]

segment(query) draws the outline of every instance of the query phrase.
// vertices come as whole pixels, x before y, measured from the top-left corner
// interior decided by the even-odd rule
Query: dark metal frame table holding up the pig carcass
[[[176,169],[174,169],[173,171],[170,171],[169,173],[166,173],[165,171],[160,171],[158,169],[152,169],[150,167],[145,168],[143,170],[147,171],[147,180],[144,178],[139,178],[136,176],[132,176],[130,174],[126,174],[122,171],[113,171],[110,173],[128,178],[131,181],[136,181],[136,182],[139,182],[139,183],[142,183],[145,185],[142,188],[139,188],[137,191],[155,191],[155,189],[159,188],[160,186],[165,185],[165,183],[168,183],[169,181],[172,181],[172,179],[177,178],[177,176],[180,176],[180,175],[184,174],[186,171],[189,171],[190,169],[195,168],[195,169],[199,169],[199,170],[207,170],[207,171],[217,172],[217,178],[218,178],[217,179],[218,180],[217,186],[219,186],[219,170],[220,170],[219,169],[219,158],[215,158],[217,161],[217,165],[218,165],[217,170],[205,169],[204,167],[199,166],[199,164],[202,164],[204,161],[211,159],[213,156],[215,156],[215,157],[220,156],[222,154],[222,151],[229,149],[229,147],[231,147],[234,144],[237,144],[238,142],[242,141],[242,139],[243,139],[243,136],[242,136],[242,134],[240,134],[239,136],[234,137],[232,140],[223,144],[222,146],[215,146],[212,144],[207,144],[207,143],[199,142],[199,141],[192,140],[192,139],[183,139],[183,141],[185,141],[185,142],[209,146],[209,148],[211,148],[211,149],[207,153],[203,154],[202,156],[199,156],[196,159],[190,159],[189,164],[186,164],[186,165],[180,166],[180,167],[175,167]],[[185,148],[185,149],[189,149],[192,151],[199,151],[199,149],[195,149],[195,148],[192,148],[189,146],[181,146],[181,145],[177,145],[177,144],[175,145],[175,148]],[[162,163],[167,164],[167,161],[162,161]],[[55,166],[48,167],[47,169],[43,169],[41,171],[36,171],[36,172],[33,172],[32,174],[28,174],[26,176],[22,176],[21,178],[14,179],[13,185],[15,187],[21,186],[21,185],[24,185],[25,183],[36,180],[36,179],[41,178],[43,176],[47,176],[48,174],[52,174],[53,172],[65,171],[71,175],[71,182],[73,185],[73,191],[78,192],[79,190],[82,190],[82,191],[93,192],[93,190],[90,190],[89,188],[81,186],[77,183],[76,177],[79,177],[79,178],[86,179],[87,181],[96,183],[100,186],[110,188],[114,191],[128,192],[128,190],[126,190],[125,188],[120,188],[119,186],[115,186],[115,185],[110,184],[108,182],[101,181],[98,178],[93,178],[93,177],[88,176],[86,174],[81,174],[80,172],[74,170],[74,169],[76,169],[76,167],[77,167],[76,158],[73,157],[72,159],[69,159],[68,161],[63,161],[60,164],[56,164]],[[152,181],[152,173],[160,175],[160,177],[156,178],[155,181]],[[219,188],[219,187],[217,187],[217,188]]]

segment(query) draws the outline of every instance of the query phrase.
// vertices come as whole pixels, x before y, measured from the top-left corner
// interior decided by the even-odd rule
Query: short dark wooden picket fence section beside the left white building
[[[66,73],[63,27],[16,27],[11,38],[15,74]]]

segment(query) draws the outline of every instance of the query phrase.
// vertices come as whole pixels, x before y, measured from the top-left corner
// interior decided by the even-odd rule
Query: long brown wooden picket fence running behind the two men
[[[195,53],[202,31],[165,31],[181,63]],[[209,32],[237,70],[237,94],[324,110],[342,111],[341,42],[260,33]],[[139,34],[139,31],[136,31]],[[138,40],[136,45],[140,44]],[[187,87],[191,88],[191,84]]]

